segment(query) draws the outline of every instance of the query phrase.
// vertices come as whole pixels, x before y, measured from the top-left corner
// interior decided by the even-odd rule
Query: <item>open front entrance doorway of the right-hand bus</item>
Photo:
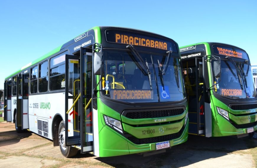
[[[205,134],[203,57],[183,61],[190,134]]]

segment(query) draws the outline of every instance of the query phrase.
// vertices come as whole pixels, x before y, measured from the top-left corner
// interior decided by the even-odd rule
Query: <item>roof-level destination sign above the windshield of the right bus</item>
[[[225,46],[225,45],[213,45],[212,48],[214,50],[214,53],[217,55],[243,58],[248,60],[246,52],[239,49],[235,49],[234,47]]]

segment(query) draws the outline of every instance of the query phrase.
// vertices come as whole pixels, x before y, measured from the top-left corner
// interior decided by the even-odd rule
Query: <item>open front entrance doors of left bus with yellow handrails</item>
[[[92,53],[81,48],[80,55],[66,55],[65,145],[80,146],[81,153],[93,150],[92,135]],[[91,54],[91,55],[90,55]],[[90,65],[90,66],[89,66]],[[89,119],[88,119],[89,118]]]

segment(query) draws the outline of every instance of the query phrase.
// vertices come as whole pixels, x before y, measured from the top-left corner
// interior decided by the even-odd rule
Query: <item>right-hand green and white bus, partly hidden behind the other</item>
[[[189,134],[253,136],[257,96],[245,50],[203,42],[180,47],[188,97]]]

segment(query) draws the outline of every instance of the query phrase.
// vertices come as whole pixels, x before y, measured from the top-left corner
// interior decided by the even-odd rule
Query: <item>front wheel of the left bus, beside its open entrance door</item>
[[[73,157],[78,153],[78,149],[76,149],[72,146],[64,147],[64,144],[65,144],[65,124],[64,124],[64,121],[61,121],[61,123],[59,125],[58,140],[59,140],[59,146],[60,146],[61,154],[64,157]]]

